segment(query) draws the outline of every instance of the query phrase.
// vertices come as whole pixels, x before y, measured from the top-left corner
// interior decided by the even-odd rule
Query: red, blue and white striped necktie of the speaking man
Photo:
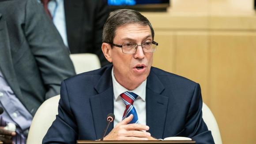
[[[133,92],[124,92],[124,93],[120,94],[120,96],[126,105],[125,106],[126,109],[124,111],[122,120],[124,120],[124,118],[127,118],[130,114],[133,114],[132,121],[129,122],[128,124],[139,123],[137,112],[136,112],[135,108],[133,107],[133,102],[136,100],[138,95],[136,95]]]

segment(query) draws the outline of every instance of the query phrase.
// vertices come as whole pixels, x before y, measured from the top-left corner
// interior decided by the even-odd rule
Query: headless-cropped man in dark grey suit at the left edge
[[[75,70],[68,48],[40,1],[1,1],[1,125],[15,123],[22,137],[26,137],[38,107],[58,95],[60,82],[72,75]]]

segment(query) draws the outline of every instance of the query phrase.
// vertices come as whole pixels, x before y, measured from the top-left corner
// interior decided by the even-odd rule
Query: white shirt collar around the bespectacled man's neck
[[[118,96],[120,94],[129,91],[128,89],[125,89],[122,85],[120,85],[114,74],[114,67],[112,68],[112,81],[113,81],[113,91],[114,91],[114,100],[117,101]],[[129,92],[134,92],[136,95],[141,97],[143,101],[146,100],[146,84],[147,84],[147,79],[143,81],[136,89],[129,91]]]

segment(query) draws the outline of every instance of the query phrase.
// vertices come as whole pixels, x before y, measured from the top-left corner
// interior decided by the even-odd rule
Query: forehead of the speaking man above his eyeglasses
[[[152,39],[151,29],[148,25],[143,26],[136,23],[131,23],[124,26],[119,26],[115,31],[114,41],[125,40],[141,40]]]

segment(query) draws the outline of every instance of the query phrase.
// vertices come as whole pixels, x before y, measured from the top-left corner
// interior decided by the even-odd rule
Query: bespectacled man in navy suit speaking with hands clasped
[[[102,44],[113,65],[62,82],[59,114],[43,144],[99,140],[109,113],[116,118],[103,140],[176,136],[214,144],[202,118],[200,85],[151,67],[157,45],[150,22],[138,11],[113,11]]]

